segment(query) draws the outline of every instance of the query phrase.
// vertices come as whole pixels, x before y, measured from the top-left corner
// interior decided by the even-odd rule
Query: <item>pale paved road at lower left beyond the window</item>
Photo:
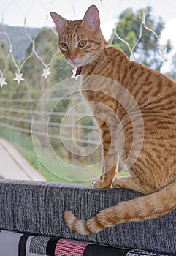
[[[45,181],[45,178],[7,141],[0,138],[0,176]]]

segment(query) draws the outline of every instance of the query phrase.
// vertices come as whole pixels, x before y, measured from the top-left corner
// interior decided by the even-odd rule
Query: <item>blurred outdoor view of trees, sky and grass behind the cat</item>
[[[0,0],[0,136],[47,181],[90,184],[101,173],[99,131],[50,18],[82,19],[91,4],[109,45],[176,80],[175,0]]]

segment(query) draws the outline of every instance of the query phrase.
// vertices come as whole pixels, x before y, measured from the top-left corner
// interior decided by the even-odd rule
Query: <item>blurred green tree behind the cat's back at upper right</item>
[[[146,27],[148,29],[146,29]],[[134,47],[142,32],[142,37],[140,37],[139,42],[134,48],[135,60],[158,71],[164,63],[164,59],[157,58],[161,50],[158,37],[162,29],[164,29],[164,22],[161,18],[154,20],[151,7],[147,7],[145,12],[143,10],[133,12],[131,8],[128,8],[122,12],[116,24],[116,33],[124,41],[128,42],[131,49]],[[156,37],[156,34],[151,30],[153,30],[158,37]],[[115,47],[123,50],[123,52],[130,57],[131,53],[128,46],[120,41],[118,37],[113,37],[113,33],[110,37],[110,42],[112,42],[112,45],[115,45]],[[166,48],[167,52],[171,49],[170,42],[167,42]]]

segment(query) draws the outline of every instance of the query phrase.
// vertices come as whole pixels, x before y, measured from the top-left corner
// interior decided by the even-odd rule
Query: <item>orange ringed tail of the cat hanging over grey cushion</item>
[[[106,208],[88,220],[74,217],[71,211],[64,212],[66,225],[76,233],[91,235],[106,227],[123,222],[139,222],[154,219],[169,213],[176,207],[176,180],[158,192],[118,203]]]

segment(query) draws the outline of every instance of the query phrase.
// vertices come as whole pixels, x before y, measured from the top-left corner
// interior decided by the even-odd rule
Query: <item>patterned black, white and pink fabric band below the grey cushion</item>
[[[68,238],[33,236],[0,230],[0,256],[169,256],[154,252],[76,241]]]

